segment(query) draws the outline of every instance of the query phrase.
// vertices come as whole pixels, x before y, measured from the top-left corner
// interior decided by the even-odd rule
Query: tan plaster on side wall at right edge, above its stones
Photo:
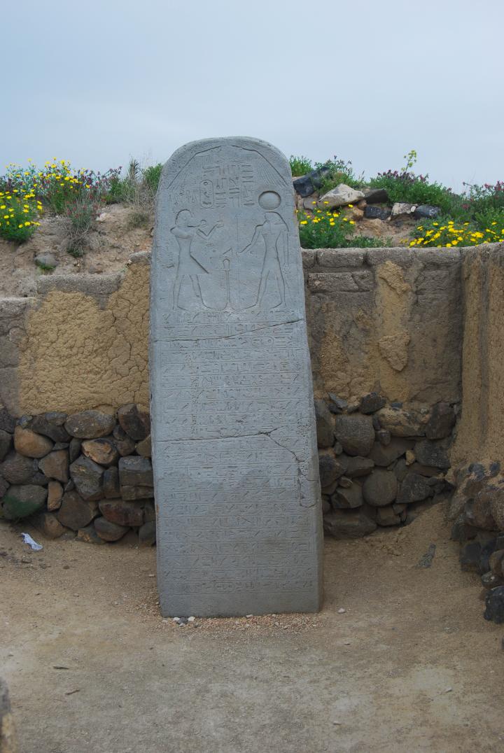
[[[504,459],[504,246],[463,254],[463,410],[452,465]]]

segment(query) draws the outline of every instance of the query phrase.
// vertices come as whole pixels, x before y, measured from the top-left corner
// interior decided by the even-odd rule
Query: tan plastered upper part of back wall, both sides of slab
[[[121,273],[47,275],[0,301],[0,402],[14,415],[148,404],[148,253]],[[460,400],[460,252],[304,251],[317,398]]]

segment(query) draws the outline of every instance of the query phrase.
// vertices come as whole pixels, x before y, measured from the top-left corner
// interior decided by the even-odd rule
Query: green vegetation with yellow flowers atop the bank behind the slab
[[[378,172],[365,180],[356,175],[350,160],[333,157],[325,163],[312,163],[307,157],[292,155],[292,175],[305,175],[322,169],[319,195],[338,184],[364,190],[384,188],[389,204],[396,202],[427,204],[441,209],[435,220],[420,221],[411,233],[414,246],[477,245],[504,242],[504,182],[496,184],[464,184],[456,194],[450,188],[430,181],[429,175],[414,172],[417,152],[404,155],[399,170]],[[106,204],[124,203],[130,207],[129,229],[149,227],[162,165],[142,167],[131,159],[125,172],[121,167],[104,173],[90,169],[74,169],[67,160],[46,162],[38,169],[31,160],[26,167],[8,165],[0,175],[0,238],[22,243],[40,224],[44,212],[66,218],[69,226],[69,254],[84,254],[96,216]],[[316,204],[314,202],[314,204]],[[304,211],[298,214],[299,235],[304,248],[347,248],[349,246],[385,245],[382,239],[357,235],[356,221],[345,210]],[[357,213],[355,213],[357,214]],[[362,214],[362,213],[361,213]]]

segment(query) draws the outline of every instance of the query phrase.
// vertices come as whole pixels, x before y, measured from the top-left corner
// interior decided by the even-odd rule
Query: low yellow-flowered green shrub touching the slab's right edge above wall
[[[316,209],[313,215],[299,212],[299,239],[303,248],[349,248],[350,246],[383,246],[383,241],[365,236],[348,239],[355,231],[355,221],[340,212]]]

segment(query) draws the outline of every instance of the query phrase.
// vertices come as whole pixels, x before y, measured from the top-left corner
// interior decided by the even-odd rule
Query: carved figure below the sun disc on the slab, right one
[[[287,225],[278,212],[265,212],[264,222],[257,225],[249,245],[243,248],[242,254],[252,248],[259,239],[264,242],[265,252],[261,270],[261,282],[255,306],[260,305],[266,292],[267,280],[270,276],[276,280],[280,301],[274,309],[286,305],[286,281],[282,267],[286,263],[286,249],[288,248]]]

